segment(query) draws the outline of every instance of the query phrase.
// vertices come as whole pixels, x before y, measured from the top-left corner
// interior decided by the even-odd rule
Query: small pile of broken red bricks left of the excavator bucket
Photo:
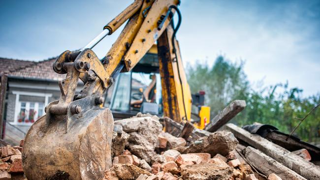
[[[0,148],[0,180],[24,180],[24,172],[22,169],[22,146],[11,147],[6,145]]]

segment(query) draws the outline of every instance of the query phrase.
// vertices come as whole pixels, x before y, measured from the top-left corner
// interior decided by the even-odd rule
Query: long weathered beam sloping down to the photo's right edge
[[[265,138],[262,138],[257,134],[251,134],[232,123],[225,124],[224,127],[224,129],[231,131],[236,138],[248,143],[250,146],[258,150],[261,150],[266,155],[282,163],[289,169],[300,174],[302,177],[308,180],[320,180],[320,167],[317,167],[315,164],[304,160],[298,155],[291,153],[290,151],[268,141]]]

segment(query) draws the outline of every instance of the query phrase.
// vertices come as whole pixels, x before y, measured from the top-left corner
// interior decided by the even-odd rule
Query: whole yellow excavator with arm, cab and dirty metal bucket
[[[209,123],[204,92],[191,94],[182,64],[176,40],[179,4],[134,0],[85,47],[56,59],[54,71],[66,76],[59,81],[60,99],[46,106],[25,137],[22,161],[28,180],[54,179],[57,172],[68,173],[70,180],[103,179],[112,166],[113,122],[136,112],[191,121],[200,129]],[[92,49],[125,23],[99,59]],[[76,94],[79,79],[84,87]]]

